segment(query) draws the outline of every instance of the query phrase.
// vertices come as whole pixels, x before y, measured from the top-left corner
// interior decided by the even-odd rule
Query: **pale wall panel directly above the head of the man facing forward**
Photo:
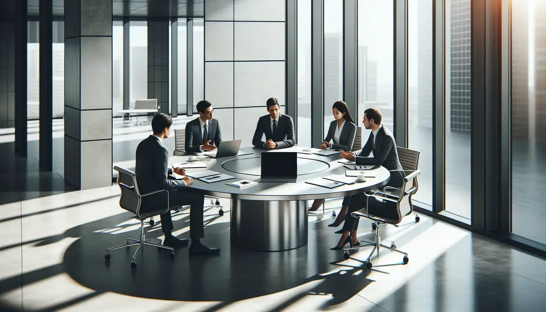
[[[235,62],[235,107],[265,106],[275,97],[284,105],[284,62]]]

